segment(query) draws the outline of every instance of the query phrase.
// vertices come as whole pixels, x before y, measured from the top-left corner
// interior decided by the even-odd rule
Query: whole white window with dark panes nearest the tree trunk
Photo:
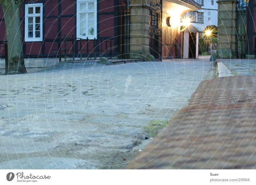
[[[25,5],[25,41],[43,41],[43,3]]]

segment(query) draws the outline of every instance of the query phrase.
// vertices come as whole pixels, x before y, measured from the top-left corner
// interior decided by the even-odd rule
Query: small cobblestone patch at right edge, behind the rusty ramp
[[[235,76],[256,74],[256,59],[222,59],[221,62]]]

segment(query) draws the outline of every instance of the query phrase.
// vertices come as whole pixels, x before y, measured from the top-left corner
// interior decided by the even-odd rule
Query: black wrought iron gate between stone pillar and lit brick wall
[[[162,0],[150,0],[149,52],[157,61],[162,60]]]

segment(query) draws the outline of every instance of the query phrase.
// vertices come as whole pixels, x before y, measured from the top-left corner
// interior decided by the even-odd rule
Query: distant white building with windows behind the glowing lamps
[[[184,17],[191,19],[191,25],[203,31],[208,25],[218,25],[218,4],[215,0],[196,0],[201,6],[198,11],[189,11]]]

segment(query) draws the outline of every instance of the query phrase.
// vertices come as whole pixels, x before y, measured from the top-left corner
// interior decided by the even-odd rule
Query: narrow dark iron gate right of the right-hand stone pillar
[[[248,3],[244,0],[237,2],[237,57],[245,58],[247,41],[247,8]]]

